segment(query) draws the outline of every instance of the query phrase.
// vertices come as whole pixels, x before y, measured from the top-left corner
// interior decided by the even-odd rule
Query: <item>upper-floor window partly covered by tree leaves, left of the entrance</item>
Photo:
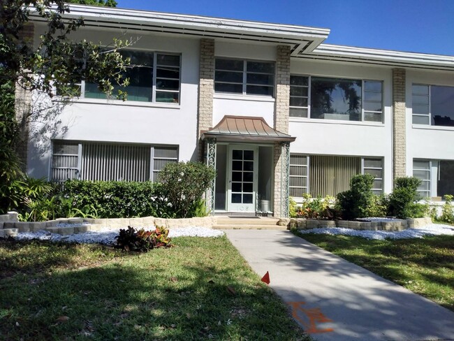
[[[112,96],[122,89],[128,93],[128,101],[180,103],[180,55],[122,50],[124,57],[131,59],[124,73],[129,78],[126,88],[114,87]],[[106,99],[98,85],[82,81],[80,97]]]

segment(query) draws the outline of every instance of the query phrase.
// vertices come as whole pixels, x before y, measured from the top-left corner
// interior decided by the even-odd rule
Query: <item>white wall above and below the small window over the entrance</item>
[[[253,45],[250,43],[230,43],[217,41],[214,54],[216,57],[276,60],[274,45]],[[274,124],[274,98],[269,96],[246,96],[214,93],[213,126],[225,115],[263,117],[268,125]]]

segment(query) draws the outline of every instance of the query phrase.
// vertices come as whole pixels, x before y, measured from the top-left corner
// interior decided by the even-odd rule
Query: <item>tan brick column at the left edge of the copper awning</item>
[[[198,83],[197,139],[198,159],[203,161],[201,132],[213,124],[214,39],[200,39],[200,80]]]

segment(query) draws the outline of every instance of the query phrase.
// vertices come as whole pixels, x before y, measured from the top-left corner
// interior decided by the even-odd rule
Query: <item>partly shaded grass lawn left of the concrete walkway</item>
[[[0,340],[310,340],[227,238],[0,241]]]

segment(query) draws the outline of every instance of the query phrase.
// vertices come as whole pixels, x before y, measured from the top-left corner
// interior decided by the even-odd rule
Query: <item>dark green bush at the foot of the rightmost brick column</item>
[[[427,215],[427,205],[418,203],[418,186],[421,180],[416,177],[398,177],[395,189],[389,196],[388,214],[400,219],[420,218]]]

